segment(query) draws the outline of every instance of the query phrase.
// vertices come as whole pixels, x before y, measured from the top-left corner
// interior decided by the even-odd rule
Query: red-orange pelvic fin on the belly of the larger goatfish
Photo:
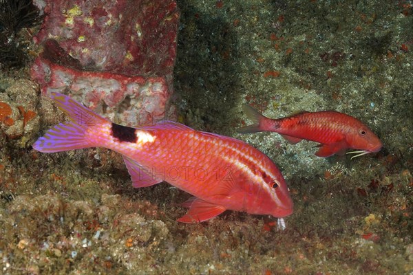
[[[181,223],[199,223],[201,221],[207,221],[226,210],[223,206],[218,206],[217,204],[209,203],[198,198],[191,198],[184,203],[189,203],[190,200],[192,200],[192,203],[187,214],[184,214],[183,217],[178,219]]]

